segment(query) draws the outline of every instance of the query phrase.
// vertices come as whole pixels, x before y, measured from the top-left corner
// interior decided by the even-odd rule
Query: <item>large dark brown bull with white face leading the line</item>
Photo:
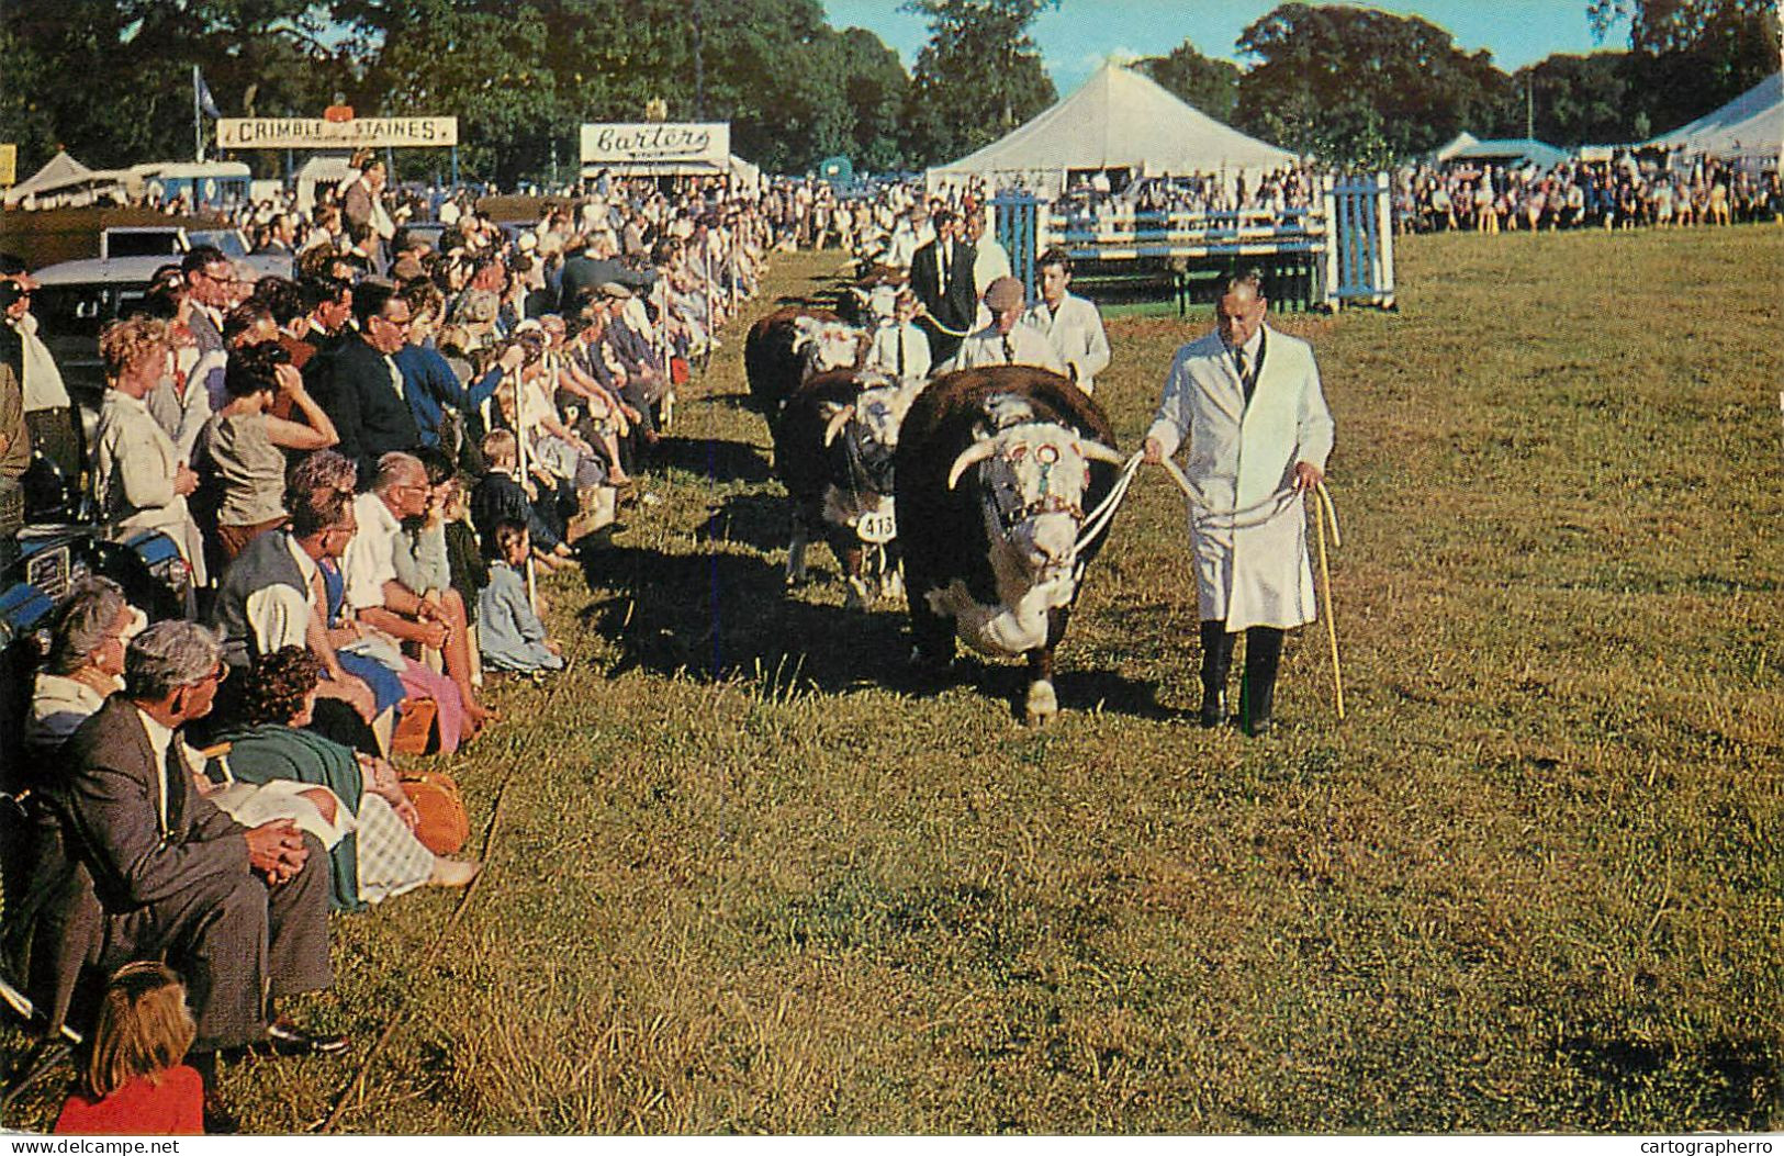
[[[931,382],[894,458],[913,658],[946,667],[956,637],[1026,656],[1024,717],[1051,721],[1053,653],[1104,541],[1079,541],[1085,514],[1120,467],[1108,417],[1056,373],[990,366]]]

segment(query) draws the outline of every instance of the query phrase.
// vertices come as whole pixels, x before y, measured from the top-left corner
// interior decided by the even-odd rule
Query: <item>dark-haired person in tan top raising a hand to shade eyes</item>
[[[221,485],[218,542],[223,557],[234,562],[257,535],[285,521],[282,451],[326,450],[341,439],[278,344],[237,350],[225,369],[223,389],[228,403],[205,423],[202,444]],[[303,416],[303,423],[271,414],[280,398]]]

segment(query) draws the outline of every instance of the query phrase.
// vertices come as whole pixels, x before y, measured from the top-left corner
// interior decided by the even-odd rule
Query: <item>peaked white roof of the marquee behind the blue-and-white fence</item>
[[[985,177],[1058,194],[1070,171],[1131,175],[1268,171],[1295,153],[1229,128],[1151,77],[1108,61],[1085,84],[1001,141],[929,169],[931,186]]]

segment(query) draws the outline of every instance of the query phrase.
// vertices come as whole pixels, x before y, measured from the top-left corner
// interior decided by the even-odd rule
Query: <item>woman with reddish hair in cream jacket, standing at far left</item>
[[[168,364],[168,326],[148,318],[114,321],[100,334],[100,357],[109,389],[95,435],[93,491],[105,537],[159,530],[178,546],[193,585],[207,585],[203,541],[186,505],[198,475],[145,403]]]

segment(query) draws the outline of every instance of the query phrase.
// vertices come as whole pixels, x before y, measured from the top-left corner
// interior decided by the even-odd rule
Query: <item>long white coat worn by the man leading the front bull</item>
[[[1217,510],[1245,508],[1293,487],[1295,466],[1326,471],[1333,417],[1320,392],[1313,348],[1263,330],[1263,364],[1251,405],[1218,334],[1177,350],[1147,437],[1169,457],[1188,444],[1185,473]],[[1318,617],[1308,566],[1306,505],[1297,496],[1276,516],[1208,516],[1190,507],[1190,546],[1202,621],[1229,633],[1292,628]],[[1236,523],[1236,524],[1235,524]]]

